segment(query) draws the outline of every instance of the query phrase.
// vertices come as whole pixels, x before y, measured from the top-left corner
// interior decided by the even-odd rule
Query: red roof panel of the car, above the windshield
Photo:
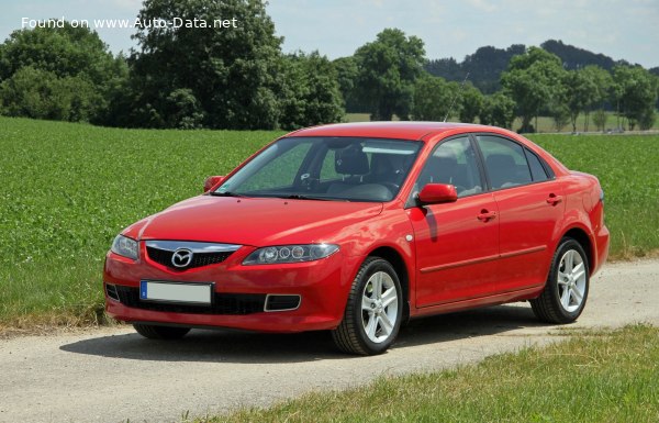
[[[477,125],[471,123],[455,122],[355,122],[336,123],[330,125],[312,126],[299,130],[287,136],[364,136],[373,138],[418,140],[428,138],[426,135],[437,135],[455,130],[469,132],[498,132],[507,131],[494,126]],[[458,131],[461,132],[461,131]]]

